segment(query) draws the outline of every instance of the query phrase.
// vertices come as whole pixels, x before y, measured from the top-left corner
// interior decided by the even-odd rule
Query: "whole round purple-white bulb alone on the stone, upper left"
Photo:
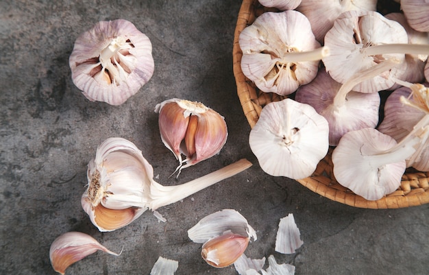
[[[121,105],[154,73],[149,38],[130,21],[100,21],[80,35],[69,58],[71,78],[90,101]]]

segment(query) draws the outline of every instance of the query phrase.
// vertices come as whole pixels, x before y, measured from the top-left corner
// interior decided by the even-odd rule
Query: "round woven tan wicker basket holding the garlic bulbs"
[[[260,93],[253,82],[247,79],[241,71],[243,53],[238,45],[238,36],[245,27],[254,22],[258,15],[267,11],[269,9],[262,7],[257,0],[243,0],[234,32],[232,51],[234,77],[243,112],[251,128],[258,121],[260,112],[266,104],[285,98],[274,93]],[[401,186],[395,192],[380,200],[369,201],[336,182],[332,172],[331,154],[332,148],[319,162],[312,176],[297,181],[323,197],[360,208],[404,208],[429,203],[429,172],[422,173],[407,169],[402,176]]]

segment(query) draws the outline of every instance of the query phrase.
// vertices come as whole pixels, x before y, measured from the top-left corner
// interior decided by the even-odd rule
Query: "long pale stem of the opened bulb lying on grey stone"
[[[184,184],[176,186],[163,186],[157,182],[152,182],[150,190],[151,201],[149,202],[149,208],[151,208],[151,210],[156,210],[161,206],[178,202],[179,200],[182,200],[193,193],[197,193],[206,187],[210,187],[212,184],[220,182],[226,178],[230,178],[251,166],[252,163],[250,163],[249,160],[242,158],[235,163]]]

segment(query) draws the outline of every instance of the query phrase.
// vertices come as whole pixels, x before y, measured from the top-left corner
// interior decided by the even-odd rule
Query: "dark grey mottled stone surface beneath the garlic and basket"
[[[119,252],[92,254],[66,274],[149,274],[158,256],[176,274],[236,274],[206,264],[187,230],[233,208],[258,234],[245,254],[296,266],[296,274],[429,274],[428,205],[367,210],[332,202],[286,178],[264,174],[247,143],[236,95],[232,41],[241,1],[0,1],[0,274],[56,274],[49,246],[77,230]],[[121,106],[88,101],[71,81],[75,38],[97,21],[127,19],[149,36],[155,73]],[[160,141],[154,107],[179,97],[201,101],[228,123],[221,154],[169,175],[176,160]],[[254,165],[182,202],[147,211],[101,233],[80,206],[86,165],[110,136],[133,141],[162,184],[180,184],[247,158]],[[280,218],[293,213],[304,241],[295,254],[274,251]]]

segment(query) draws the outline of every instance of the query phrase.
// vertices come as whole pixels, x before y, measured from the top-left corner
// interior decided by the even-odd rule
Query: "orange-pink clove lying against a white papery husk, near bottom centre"
[[[225,234],[204,243],[201,256],[213,267],[227,267],[245,252],[249,239],[249,237],[232,232],[225,232]]]

